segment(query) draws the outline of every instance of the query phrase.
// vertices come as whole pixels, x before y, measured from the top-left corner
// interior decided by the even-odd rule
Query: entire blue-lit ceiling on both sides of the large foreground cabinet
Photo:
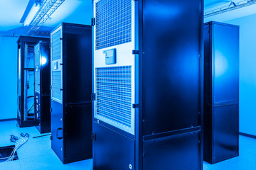
[[[0,1],[0,31],[11,30],[22,26],[19,23],[29,0],[1,0]],[[242,1],[242,0],[233,0]],[[205,0],[205,11],[219,6],[227,6],[229,0]],[[256,6],[240,8],[239,10],[223,13],[206,18],[206,21],[228,21],[242,16],[256,13]],[[65,0],[63,4],[50,16],[43,26],[55,27],[60,22],[90,24],[92,18],[92,0]]]

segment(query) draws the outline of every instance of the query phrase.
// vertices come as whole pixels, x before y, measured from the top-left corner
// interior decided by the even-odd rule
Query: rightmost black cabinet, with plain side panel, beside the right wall
[[[204,25],[203,159],[215,164],[239,154],[239,27]]]

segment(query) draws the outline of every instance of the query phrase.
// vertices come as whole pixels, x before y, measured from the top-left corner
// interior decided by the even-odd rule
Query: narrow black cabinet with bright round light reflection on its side
[[[35,46],[36,128],[50,132],[50,39]]]

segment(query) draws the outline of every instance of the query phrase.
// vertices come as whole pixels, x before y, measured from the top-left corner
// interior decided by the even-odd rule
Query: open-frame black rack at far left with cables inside
[[[20,36],[18,38],[17,121],[19,127],[36,125],[34,112],[34,46],[49,38]]]

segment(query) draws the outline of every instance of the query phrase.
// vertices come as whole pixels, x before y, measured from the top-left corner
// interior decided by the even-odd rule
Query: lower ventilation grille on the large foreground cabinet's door
[[[131,66],[96,69],[96,113],[131,128]]]

